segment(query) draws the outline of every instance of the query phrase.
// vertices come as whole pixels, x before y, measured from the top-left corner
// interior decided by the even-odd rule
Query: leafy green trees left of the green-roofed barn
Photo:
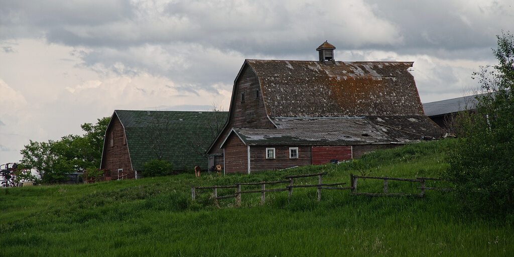
[[[57,182],[64,173],[83,172],[100,167],[105,130],[110,118],[98,119],[96,124],[84,123],[83,136],[67,135],[58,141],[30,140],[21,151],[21,163],[38,171],[45,183]]]

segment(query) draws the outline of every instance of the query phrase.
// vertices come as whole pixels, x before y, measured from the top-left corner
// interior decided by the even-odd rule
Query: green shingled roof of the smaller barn
[[[175,170],[198,165],[207,169],[201,155],[223,129],[228,112],[114,111],[125,129],[132,169],[141,171],[143,163],[162,159]],[[160,149],[160,150],[159,150]]]

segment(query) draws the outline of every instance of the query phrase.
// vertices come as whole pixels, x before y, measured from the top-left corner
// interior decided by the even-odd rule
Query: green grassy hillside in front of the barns
[[[0,256],[509,256],[512,218],[463,213],[450,194],[412,197],[352,196],[316,188],[243,195],[214,204],[211,190],[191,200],[191,185],[279,180],[328,172],[323,182],[349,174],[414,178],[439,176],[452,141],[378,151],[358,161],[251,175],[191,174],[79,186],[0,189]],[[317,182],[316,178],[295,183]],[[439,184],[437,184],[439,183]],[[358,190],[381,192],[382,180],[359,180]],[[390,192],[418,183],[389,181]],[[431,182],[427,186],[448,186]],[[283,186],[281,186],[283,187]],[[245,187],[250,190],[252,187]],[[255,190],[258,186],[254,187]],[[219,190],[218,195],[233,194]]]

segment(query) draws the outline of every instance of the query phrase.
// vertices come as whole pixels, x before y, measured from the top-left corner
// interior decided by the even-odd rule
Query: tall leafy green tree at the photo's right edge
[[[446,176],[471,210],[514,211],[514,38],[497,36],[499,63],[475,72],[484,95],[461,118],[463,137],[451,150]]]

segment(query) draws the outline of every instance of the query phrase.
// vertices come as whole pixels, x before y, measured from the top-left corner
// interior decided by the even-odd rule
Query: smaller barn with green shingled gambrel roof
[[[175,171],[200,166],[223,128],[227,112],[115,110],[105,132],[101,169],[112,179],[139,178],[152,159],[173,163]]]

